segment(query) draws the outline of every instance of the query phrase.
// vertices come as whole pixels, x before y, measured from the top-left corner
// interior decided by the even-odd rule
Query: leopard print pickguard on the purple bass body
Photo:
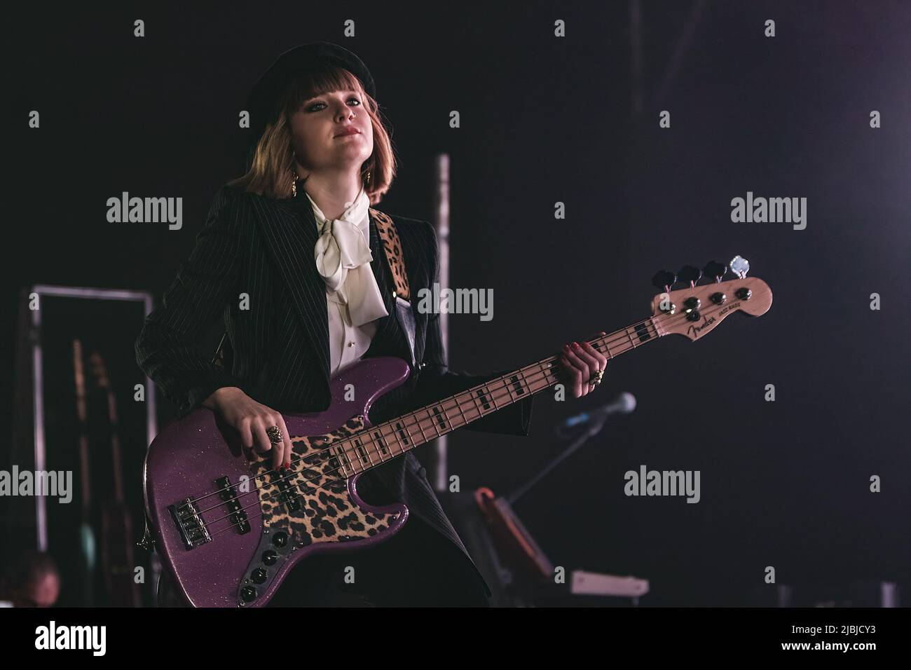
[[[313,542],[352,541],[373,537],[389,528],[401,513],[374,513],[361,510],[348,494],[348,481],[328,462],[335,454],[324,449],[363,429],[363,417],[348,419],[341,428],[315,437],[292,436],[292,469],[269,472],[270,461],[256,464],[259,479],[262,523],[292,533],[298,546]],[[337,463],[337,461],[335,461]],[[283,475],[281,474],[283,472]],[[301,502],[299,510],[291,511],[280,500],[279,484],[283,479]]]

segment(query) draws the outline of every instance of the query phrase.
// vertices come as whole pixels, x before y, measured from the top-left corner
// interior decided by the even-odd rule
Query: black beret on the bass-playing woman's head
[[[279,96],[293,78],[330,67],[343,67],[361,80],[363,90],[376,98],[374,77],[363,61],[351,51],[332,42],[311,42],[285,51],[260,77],[247,98],[250,112],[251,146],[247,151],[247,169],[266,124],[277,115]]]

